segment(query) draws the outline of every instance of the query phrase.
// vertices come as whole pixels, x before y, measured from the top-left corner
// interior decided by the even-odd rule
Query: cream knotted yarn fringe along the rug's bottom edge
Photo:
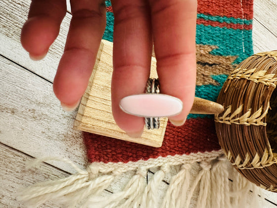
[[[174,158],[176,161],[172,162]],[[222,151],[151,158],[150,163],[148,160],[128,163],[94,162],[86,170],[67,159],[48,157],[33,161],[29,167],[49,160],[67,162],[77,173],[28,187],[18,196],[26,206],[33,208],[51,200],[67,207],[81,208],[259,207],[260,188],[244,179]],[[145,179],[149,166],[145,164],[153,163],[160,165],[156,166],[158,171],[147,182]],[[113,169],[113,164],[117,166],[116,169]],[[125,187],[108,196],[104,195],[104,190],[129,170],[135,170],[136,173]],[[163,181],[168,181],[169,185],[166,193],[161,196],[162,184],[165,184]]]

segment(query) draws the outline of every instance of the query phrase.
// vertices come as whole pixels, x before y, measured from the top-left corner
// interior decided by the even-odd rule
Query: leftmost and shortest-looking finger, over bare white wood
[[[59,34],[66,14],[66,0],[32,0],[21,32],[23,48],[32,59],[42,59]]]

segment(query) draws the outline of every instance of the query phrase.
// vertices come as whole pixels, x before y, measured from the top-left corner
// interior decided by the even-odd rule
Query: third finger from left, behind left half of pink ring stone
[[[114,0],[114,47],[112,110],[118,126],[129,136],[139,137],[144,119],[123,112],[119,103],[126,96],[141,94],[149,77],[152,37],[148,3]]]

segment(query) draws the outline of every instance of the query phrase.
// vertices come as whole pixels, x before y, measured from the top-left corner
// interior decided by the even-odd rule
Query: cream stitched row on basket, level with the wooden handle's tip
[[[267,115],[268,109],[269,109],[269,103],[267,105],[267,108],[265,112],[262,114],[263,106],[260,107],[256,112],[251,113],[251,108],[241,115],[240,117],[235,118],[236,115],[242,112],[243,104],[240,105],[232,114],[232,106],[228,106],[227,110],[224,112],[222,116],[216,116],[215,122],[219,123],[225,123],[231,125],[234,124],[240,124],[240,125],[255,125],[255,126],[266,126],[267,124],[262,122],[262,119]],[[230,115],[231,114],[231,115]],[[230,115],[230,116],[229,116]]]

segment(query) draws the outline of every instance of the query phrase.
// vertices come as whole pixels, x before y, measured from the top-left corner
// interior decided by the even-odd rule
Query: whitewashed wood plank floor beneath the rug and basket
[[[32,61],[20,45],[20,29],[30,3],[31,0],[0,1],[1,208],[23,207],[16,200],[18,189],[74,173],[69,165],[60,162],[25,171],[25,162],[33,157],[67,157],[86,166],[81,132],[72,129],[76,111],[64,112],[52,91],[71,14],[66,14],[60,35],[46,58]],[[254,52],[277,50],[276,14],[277,0],[254,0]],[[119,187],[117,184],[109,191]],[[265,196],[264,208],[277,208],[277,194],[265,192]],[[56,206],[49,202],[45,207]]]

